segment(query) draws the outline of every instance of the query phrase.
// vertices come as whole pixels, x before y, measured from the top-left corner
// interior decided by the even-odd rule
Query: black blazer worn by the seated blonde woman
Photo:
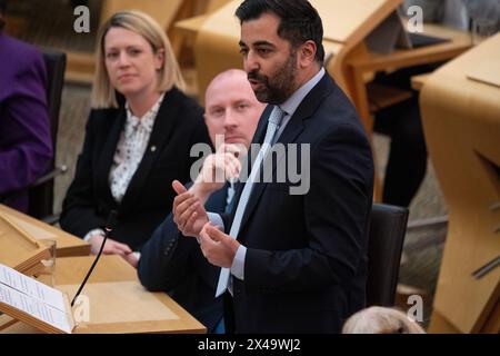
[[[172,180],[191,180],[191,164],[198,159],[190,157],[191,147],[197,142],[210,145],[202,115],[202,108],[177,88],[166,93],[144,156],[118,204],[111,195],[109,172],[126,109],[92,110],[74,179],[62,205],[62,229],[83,237],[102,227],[116,210],[112,238],[140,249],[172,209]]]

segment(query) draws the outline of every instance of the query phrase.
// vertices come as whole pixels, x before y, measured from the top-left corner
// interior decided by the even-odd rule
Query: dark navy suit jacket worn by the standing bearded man
[[[254,142],[263,141],[271,109]],[[351,102],[328,75],[278,142],[310,144],[310,189],[290,195],[290,181],[277,182],[277,165],[284,169],[287,162],[280,157],[273,182],[254,185],[238,235],[248,250],[244,281],[233,278],[232,322],[237,333],[339,333],[364,307],[370,145]],[[223,218],[229,231],[233,216]]]

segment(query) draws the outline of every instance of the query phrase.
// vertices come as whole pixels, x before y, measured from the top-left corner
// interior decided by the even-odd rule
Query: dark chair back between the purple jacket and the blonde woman
[[[47,68],[47,102],[54,151],[48,169],[48,174],[50,175],[56,168],[56,147],[59,130],[59,109],[61,107],[61,93],[64,83],[66,53],[43,53],[43,60]],[[40,219],[53,212],[53,184],[54,179],[52,177],[30,188],[28,211],[30,216]]]

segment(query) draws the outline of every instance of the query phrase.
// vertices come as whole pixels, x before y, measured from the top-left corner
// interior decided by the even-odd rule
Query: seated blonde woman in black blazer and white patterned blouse
[[[111,211],[104,254],[136,266],[141,246],[170,214],[170,182],[190,181],[191,147],[210,145],[203,109],[183,80],[161,27],[139,11],[113,14],[98,36],[92,110],[61,215],[61,227],[96,254]]]

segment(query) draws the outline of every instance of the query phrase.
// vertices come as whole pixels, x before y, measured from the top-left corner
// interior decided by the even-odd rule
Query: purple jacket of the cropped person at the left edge
[[[0,33],[0,202],[21,211],[52,158],[46,86],[40,52]]]

